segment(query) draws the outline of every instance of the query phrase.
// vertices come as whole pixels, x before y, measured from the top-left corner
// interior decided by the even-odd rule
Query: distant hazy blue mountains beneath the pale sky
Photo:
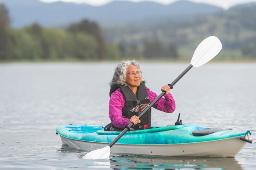
[[[43,3],[39,0],[0,0],[11,15],[13,28],[22,28],[39,23],[43,27],[66,27],[82,19],[96,21],[101,25],[141,22],[150,18],[189,17],[195,14],[210,14],[222,8],[203,3],[177,1],[170,5],[155,2],[113,1],[103,6],[90,6],[67,2]],[[153,20],[157,21],[157,20]]]

